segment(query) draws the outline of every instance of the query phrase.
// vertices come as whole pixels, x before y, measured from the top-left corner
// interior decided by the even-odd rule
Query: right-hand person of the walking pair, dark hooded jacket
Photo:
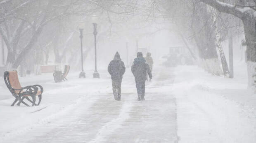
[[[146,64],[146,60],[143,58],[141,52],[137,53],[137,58],[134,59],[131,71],[135,77],[138,101],[145,100],[145,82],[147,74],[149,75],[150,80],[152,79],[152,74],[149,65]]]

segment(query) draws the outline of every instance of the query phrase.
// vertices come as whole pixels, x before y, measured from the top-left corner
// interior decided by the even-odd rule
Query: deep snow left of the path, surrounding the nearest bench
[[[44,125],[51,122],[51,120],[71,112],[75,106],[81,104],[81,100],[88,99],[87,104],[93,103],[95,95],[110,89],[106,84],[109,82],[107,78],[81,80],[77,78],[78,75],[78,73],[71,74],[68,76],[69,81],[62,83],[55,83],[52,74],[20,78],[21,85],[40,84],[44,88],[40,106],[34,107],[26,107],[22,104],[21,106],[9,106],[14,101],[14,97],[7,90],[2,79],[0,114],[4,115],[4,118],[0,119],[0,139],[12,138],[33,129],[38,124]],[[95,88],[96,83],[97,88]]]

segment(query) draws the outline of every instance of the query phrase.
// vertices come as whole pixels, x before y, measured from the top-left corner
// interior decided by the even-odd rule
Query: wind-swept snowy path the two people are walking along
[[[166,76],[166,70],[156,71],[154,80],[146,83],[146,100],[137,101],[133,76],[130,74],[130,69],[126,72],[122,83],[121,101],[114,100],[109,87],[110,79],[104,80],[105,83],[99,87],[105,85],[105,91],[85,95],[75,106],[57,118],[33,126],[33,129],[26,131],[26,137],[21,133],[16,138],[5,141],[8,143],[175,142],[177,140],[176,103],[170,88],[172,85],[170,81],[172,82],[174,77]],[[80,84],[84,87],[83,83]],[[91,84],[97,86],[98,83]],[[73,89],[69,90],[76,88],[81,87],[74,85]],[[165,90],[162,90],[163,88]],[[69,94],[67,91],[62,92]],[[79,91],[77,94],[83,93]]]

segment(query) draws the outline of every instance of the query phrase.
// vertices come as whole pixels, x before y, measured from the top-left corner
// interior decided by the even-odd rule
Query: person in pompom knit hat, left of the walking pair
[[[109,74],[112,79],[112,88],[115,100],[121,100],[121,83],[123,74],[126,71],[123,61],[118,52],[116,52],[114,60],[111,60],[108,66]],[[117,91],[116,91],[117,90]]]

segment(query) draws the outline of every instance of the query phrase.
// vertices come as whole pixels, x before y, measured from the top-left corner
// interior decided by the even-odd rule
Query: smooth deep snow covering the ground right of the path
[[[256,95],[247,92],[246,74],[240,74],[245,72],[229,79],[195,66],[175,69],[180,143],[256,142]]]

